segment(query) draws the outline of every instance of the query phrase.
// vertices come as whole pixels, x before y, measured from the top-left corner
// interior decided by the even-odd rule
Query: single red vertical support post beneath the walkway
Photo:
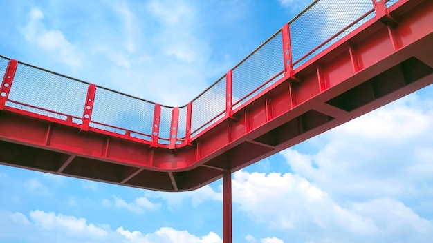
[[[223,174],[223,243],[232,243],[232,173]]]

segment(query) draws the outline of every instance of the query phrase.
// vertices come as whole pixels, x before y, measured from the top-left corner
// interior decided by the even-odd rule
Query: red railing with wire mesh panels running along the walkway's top
[[[185,106],[162,106],[0,56],[0,110],[153,147],[190,145],[398,0],[314,1]],[[13,85],[12,85],[13,84]]]

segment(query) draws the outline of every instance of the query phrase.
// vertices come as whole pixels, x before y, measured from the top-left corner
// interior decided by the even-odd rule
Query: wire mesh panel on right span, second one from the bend
[[[241,104],[252,97],[250,93],[267,81],[277,81],[274,77],[284,70],[282,33],[266,41],[247,59],[233,70],[233,104]],[[269,84],[270,85],[270,84]],[[258,92],[264,90],[261,87]],[[239,106],[239,103],[236,106]]]

